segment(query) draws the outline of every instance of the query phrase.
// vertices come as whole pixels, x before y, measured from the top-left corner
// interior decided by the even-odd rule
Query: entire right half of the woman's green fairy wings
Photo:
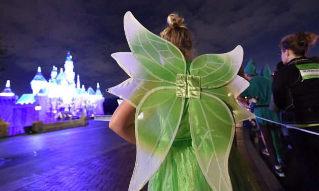
[[[191,63],[190,73],[200,77],[201,92],[199,99],[189,100],[190,131],[198,164],[213,190],[232,190],[228,156],[235,120],[251,117],[236,102],[248,85],[237,77],[242,60],[243,48],[237,46],[225,54],[201,55]]]

